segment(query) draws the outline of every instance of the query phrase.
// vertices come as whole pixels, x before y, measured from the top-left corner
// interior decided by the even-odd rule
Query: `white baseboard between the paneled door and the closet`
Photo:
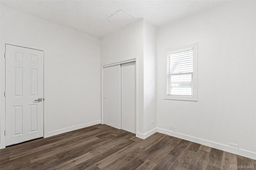
[[[84,124],[81,124],[81,125],[76,125],[76,126],[73,126],[73,127],[54,130],[54,131],[51,131],[51,132],[47,132],[47,136],[44,136],[44,138],[54,136],[54,135],[57,135],[57,134],[70,132],[70,131],[77,130],[77,129],[80,129],[80,128],[90,127],[92,125],[97,125],[97,124],[100,124],[100,123],[101,123],[101,120],[98,120],[98,121],[94,121],[94,122],[84,123]]]

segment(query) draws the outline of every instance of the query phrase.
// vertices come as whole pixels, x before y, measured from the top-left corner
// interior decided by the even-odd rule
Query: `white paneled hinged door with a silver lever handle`
[[[8,146],[43,136],[44,52],[6,44],[5,56]]]

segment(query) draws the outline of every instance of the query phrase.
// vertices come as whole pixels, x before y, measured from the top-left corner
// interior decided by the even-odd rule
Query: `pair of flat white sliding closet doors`
[[[136,132],[135,61],[104,67],[104,124]]]

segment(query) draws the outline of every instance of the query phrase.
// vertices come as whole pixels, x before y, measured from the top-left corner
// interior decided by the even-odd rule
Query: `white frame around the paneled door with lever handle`
[[[4,131],[6,130],[6,113],[5,113],[5,97],[4,97],[4,92],[5,92],[5,86],[6,86],[6,81],[5,81],[5,51],[6,51],[6,45],[15,45],[19,47],[25,47],[25,48],[30,48],[30,49],[36,49],[44,52],[44,77],[43,77],[43,90],[44,90],[44,107],[43,107],[43,114],[44,114],[44,119],[43,119],[43,125],[44,125],[44,138],[47,137],[47,52],[46,49],[41,48],[41,47],[36,47],[33,45],[28,45],[24,43],[18,43],[18,42],[13,42],[9,40],[0,40],[0,149],[3,149],[6,147],[6,136],[4,134]]]

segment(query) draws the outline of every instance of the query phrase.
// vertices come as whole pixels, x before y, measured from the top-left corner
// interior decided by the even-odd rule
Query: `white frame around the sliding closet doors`
[[[136,86],[135,86],[135,93],[136,93],[136,95],[135,95],[135,100],[136,100],[136,103],[135,103],[135,105],[136,105],[135,134],[137,135],[138,134],[138,56],[101,66],[101,124],[104,124],[104,70],[103,70],[104,67],[110,67],[113,65],[130,63],[133,61],[135,61],[135,82],[136,82]],[[121,127],[122,127],[122,125],[121,125]]]

